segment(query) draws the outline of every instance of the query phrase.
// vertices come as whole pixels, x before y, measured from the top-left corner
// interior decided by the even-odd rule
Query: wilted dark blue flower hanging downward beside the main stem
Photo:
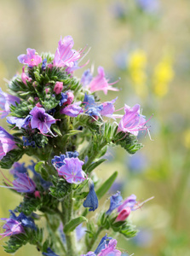
[[[91,179],[89,179],[89,194],[85,201],[83,201],[83,207],[89,207],[89,212],[95,211],[98,207],[98,198],[95,194],[95,185]]]

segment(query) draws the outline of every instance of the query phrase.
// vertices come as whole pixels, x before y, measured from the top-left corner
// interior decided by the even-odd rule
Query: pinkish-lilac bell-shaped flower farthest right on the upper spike
[[[146,119],[140,113],[140,105],[135,104],[134,107],[130,108],[124,105],[124,116],[118,124],[118,131],[130,132],[137,136],[139,131],[147,130]]]

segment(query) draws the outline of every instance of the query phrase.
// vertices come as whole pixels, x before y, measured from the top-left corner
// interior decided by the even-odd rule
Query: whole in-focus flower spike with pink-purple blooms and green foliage
[[[11,129],[9,134],[0,127],[0,166],[10,169],[14,178],[12,181],[2,172],[1,187],[23,196],[14,209],[18,216],[11,212],[10,218],[3,218],[6,224],[1,236],[10,236],[5,247],[8,253],[28,242],[46,256],[81,255],[84,243],[83,256],[119,256],[117,241],[108,236],[93,250],[100,231],[127,238],[136,233],[127,222],[130,212],[138,208],[135,195],[124,201],[120,192],[112,195],[110,207],[104,211],[99,200],[118,172],[104,183],[93,173],[104,161],[107,146],[118,145],[135,154],[142,147],[137,140],[139,131],[148,131],[147,120],[139,104],[132,108],[125,104],[122,114],[118,111],[123,108],[115,108],[118,96],[101,102],[98,91],[105,95],[109,90],[118,91],[113,86],[118,81],[110,83],[103,67],[98,67],[95,76],[88,68],[81,79],[74,77],[75,70],[89,61],[79,66],[86,48],[76,50],[73,45],[72,37],[66,36],[60,38],[55,55],[26,49],[18,57],[22,72],[9,82],[12,95],[0,90],[1,118],[6,117]],[[24,154],[35,161],[29,166],[20,163]],[[88,213],[94,211],[100,214],[92,219]],[[34,224],[34,219],[41,218],[49,231],[46,240],[43,230]],[[73,234],[81,244],[77,251]]]

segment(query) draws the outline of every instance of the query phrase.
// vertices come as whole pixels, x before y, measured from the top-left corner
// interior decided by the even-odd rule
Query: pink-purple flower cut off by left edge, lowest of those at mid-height
[[[17,148],[14,137],[0,126],[0,160],[14,148]]]

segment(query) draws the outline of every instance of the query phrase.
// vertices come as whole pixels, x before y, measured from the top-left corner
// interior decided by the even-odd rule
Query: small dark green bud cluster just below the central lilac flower
[[[64,178],[53,177],[52,183],[54,186],[49,188],[49,194],[57,198],[58,200],[63,200],[64,197],[71,192],[72,185],[70,183],[66,183]]]

